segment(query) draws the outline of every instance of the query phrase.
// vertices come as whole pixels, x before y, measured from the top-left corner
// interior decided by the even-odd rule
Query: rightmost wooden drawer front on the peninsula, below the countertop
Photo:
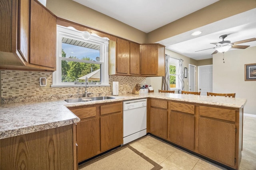
[[[231,109],[200,106],[199,115],[227,121],[236,121],[236,111]]]

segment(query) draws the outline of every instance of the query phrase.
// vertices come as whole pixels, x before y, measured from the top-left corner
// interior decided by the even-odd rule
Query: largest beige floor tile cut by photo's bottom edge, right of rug
[[[171,156],[169,156],[166,161],[169,164],[173,164],[182,170],[192,170],[192,168],[196,165],[198,160],[194,160],[181,152],[177,152],[176,150]]]

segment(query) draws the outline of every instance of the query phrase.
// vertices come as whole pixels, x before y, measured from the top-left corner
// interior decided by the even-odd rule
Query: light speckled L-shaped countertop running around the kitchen
[[[67,103],[64,100],[58,100],[37,103],[1,104],[0,139],[77,123],[80,119],[67,108],[74,106],[118,102],[140,98],[158,98],[234,108],[243,108],[246,104],[246,99],[243,98],[196,96],[158,92],[128,94],[125,96],[113,97],[115,99],[80,103]]]

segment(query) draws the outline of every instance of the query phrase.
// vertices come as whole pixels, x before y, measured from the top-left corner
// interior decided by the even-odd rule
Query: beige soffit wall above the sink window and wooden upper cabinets
[[[136,43],[146,43],[147,41],[146,33],[72,0],[47,0],[46,7],[60,18]]]

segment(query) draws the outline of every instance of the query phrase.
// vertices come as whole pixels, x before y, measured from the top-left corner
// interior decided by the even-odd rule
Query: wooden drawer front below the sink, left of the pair
[[[94,107],[85,107],[79,109],[70,109],[79,119],[85,119],[88,117],[96,116],[96,106]]]

